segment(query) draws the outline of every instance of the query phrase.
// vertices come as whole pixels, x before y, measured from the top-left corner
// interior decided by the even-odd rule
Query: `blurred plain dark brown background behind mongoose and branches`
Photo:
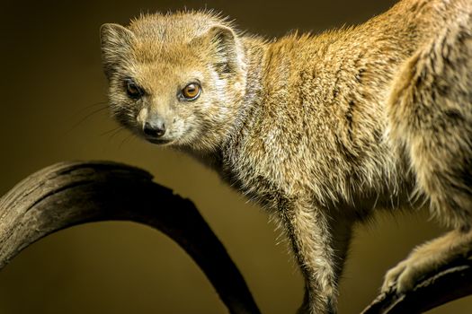
[[[53,2],[4,0],[0,9],[0,195],[56,161],[122,161],[190,197],[245,275],[263,313],[294,313],[302,281],[267,216],[186,156],[115,133],[106,109],[98,30],[140,12],[215,8],[269,36],[362,22],[395,1],[262,0]],[[156,199],[156,206],[158,200]],[[427,214],[383,216],[358,228],[340,312],[357,313],[388,267],[441,230]],[[61,231],[0,273],[1,314],[224,313],[200,270],[171,240],[127,222]],[[472,300],[434,313],[470,313]]]

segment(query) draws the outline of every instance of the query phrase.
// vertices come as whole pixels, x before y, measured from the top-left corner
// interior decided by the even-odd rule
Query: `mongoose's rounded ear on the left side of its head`
[[[102,65],[107,77],[116,66],[120,64],[123,57],[131,47],[134,34],[119,24],[103,24],[100,28],[100,39],[102,44]]]

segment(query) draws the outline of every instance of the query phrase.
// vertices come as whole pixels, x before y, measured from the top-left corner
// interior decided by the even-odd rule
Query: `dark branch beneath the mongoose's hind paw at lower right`
[[[472,294],[472,260],[461,259],[419,281],[405,294],[378,295],[361,314],[423,313]]]

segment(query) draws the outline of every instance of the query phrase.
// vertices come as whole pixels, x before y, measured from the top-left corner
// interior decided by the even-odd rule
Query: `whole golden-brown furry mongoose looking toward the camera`
[[[383,290],[472,248],[472,2],[403,0],[355,27],[267,40],[218,14],[146,14],[101,29],[111,111],[190,153],[287,232],[299,312],[334,313],[352,225],[424,200],[451,231]]]

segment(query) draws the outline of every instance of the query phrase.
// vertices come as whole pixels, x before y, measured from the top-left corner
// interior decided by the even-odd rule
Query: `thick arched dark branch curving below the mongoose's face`
[[[0,269],[31,243],[86,222],[126,220],[164,232],[200,266],[231,313],[259,313],[243,276],[191,201],[144,170],[112,162],[62,162],[0,199]]]

